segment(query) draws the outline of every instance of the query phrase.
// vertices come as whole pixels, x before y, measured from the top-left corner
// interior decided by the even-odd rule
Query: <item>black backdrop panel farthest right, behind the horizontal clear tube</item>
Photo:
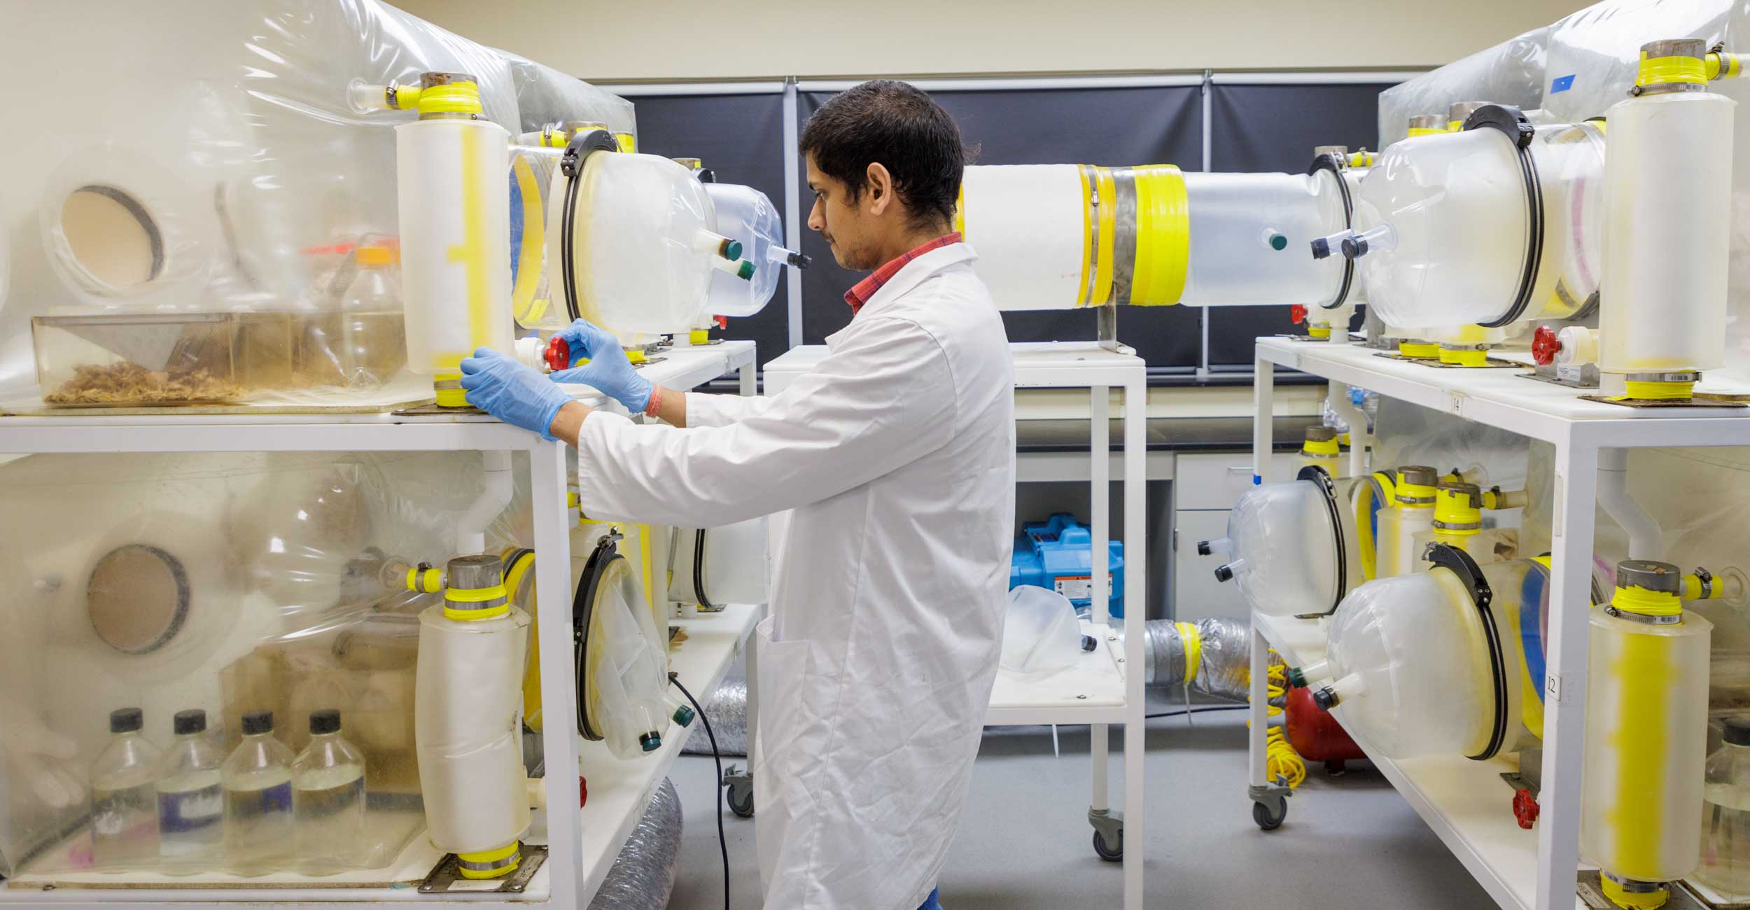
[[[1379,93],[1391,86],[1216,82],[1209,93],[1209,168],[1300,173],[1312,163],[1318,145],[1377,150]],[[1251,366],[1256,336],[1300,331],[1290,322],[1286,306],[1213,306],[1209,315],[1211,366]]]

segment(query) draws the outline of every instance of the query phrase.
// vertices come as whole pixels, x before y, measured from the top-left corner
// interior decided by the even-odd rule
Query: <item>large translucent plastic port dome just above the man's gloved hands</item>
[[[691,331],[705,317],[721,236],[693,173],[653,154],[592,152],[572,214],[578,312],[621,336]],[[548,194],[548,262],[564,250],[567,177]],[[555,273],[556,296],[564,278]]]

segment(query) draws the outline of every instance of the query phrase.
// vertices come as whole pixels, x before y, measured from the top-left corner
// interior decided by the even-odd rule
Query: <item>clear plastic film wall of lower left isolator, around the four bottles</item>
[[[424,828],[413,752],[416,614],[387,555],[443,558],[480,490],[472,453],[32,455],[0,466],[0,872],[91,866],[89,779],[108,714],[206,712],[224,749],[273,710],[280,740],[341,712],[364,752],[382,866]],[[334,870],[340,872],[340,870]]]

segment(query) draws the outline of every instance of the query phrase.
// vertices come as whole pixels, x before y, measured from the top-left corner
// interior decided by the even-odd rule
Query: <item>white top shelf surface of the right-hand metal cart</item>
[[[1524,369],[1442,369],[1379,357],[1362,345],[1330,345],[1260,338],[1258,357],[1386,397],[1452,413],[1521,436],[1561,443],[1570,432],[1608,439],[1615,446],[1750,444],[1750,408],[1626,408],[1568,388],[1524,378]],[[1521,359],[1522,354],[1498,354]],[[1750,394],[1741,382],[1704,376],[1698,392]],[[1736,443],[1734,443],[1736,441]],[[1601,443],[1603,444],[1603,443]]]

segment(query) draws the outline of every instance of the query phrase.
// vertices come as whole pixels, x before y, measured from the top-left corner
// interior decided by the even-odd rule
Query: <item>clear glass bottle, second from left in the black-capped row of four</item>
[[[212,872],[224,861],[224,752],[206,735],[206,712],[178,710],[177,740],[158,770],[158,858],[170,875]]]

